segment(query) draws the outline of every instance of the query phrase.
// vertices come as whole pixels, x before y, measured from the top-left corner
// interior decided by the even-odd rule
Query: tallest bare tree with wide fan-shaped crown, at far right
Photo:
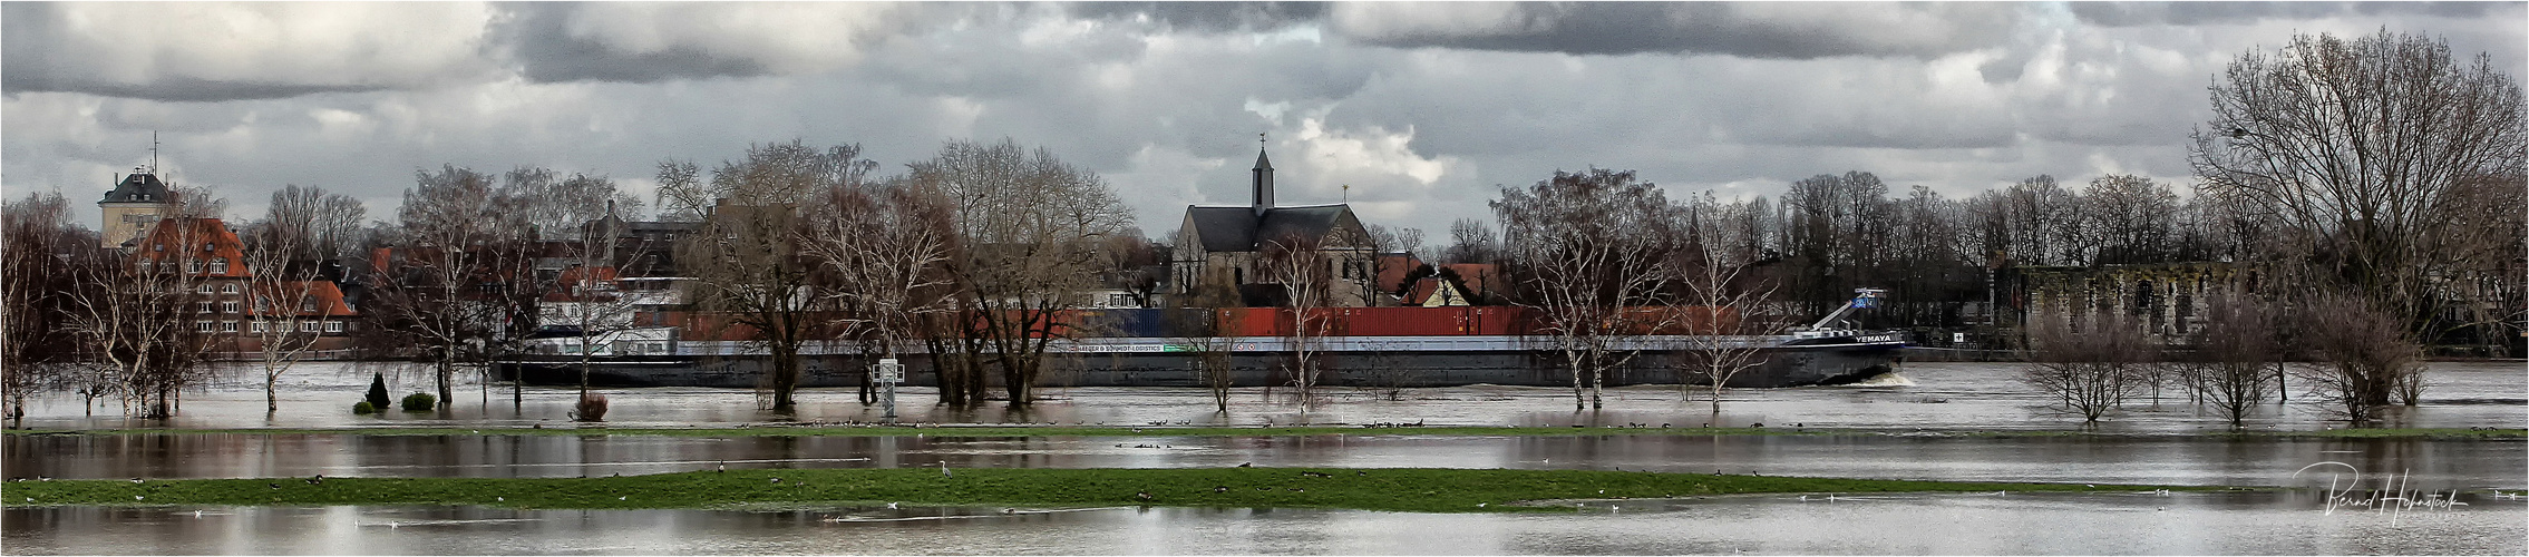
[[[2438,276],[2466,263],[2425,241],[2461,223],[2440,215],[2446,200],[2471,180],[2516,190],[2529,160],[2521,86],[2491,56],[2463,66],[2425,35],[2294,35],[2231,61],[2210,101],[2188,149],[2205,190],[2279,223],[2291,261],[2314,263],[2306,276],[2372,296],[2408,329],[2425,324]]]

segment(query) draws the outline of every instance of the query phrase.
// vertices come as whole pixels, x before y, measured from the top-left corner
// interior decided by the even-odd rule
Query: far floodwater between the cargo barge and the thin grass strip
[[[518,403],[506,385],[463,382],[450,413],[352,415],[372,372],[384,372],[395,397],[425,392],[425,372],[412,365],[314,362],[283,375],[281,410],[266,413],[258,370],[235,370],[195,392],[185,392],[177,418],[134,420],[104,403],[83,408],[73,395],[30,400],[25,428],[372,428],[372,425],[569,425],[577,390],[526,387]],[[1292,425],[1292,423],[1424,423],[1424,425],[1808,425],[1808,428],[1887,428],[1887,430],[2069,430],[2079,415],[2048,408],[2048,397],[2016,380],[2018,365],[1925,362],[1869,385],[1727,390],[1715,415],[1707,392],[1677,387],[1606,390],[1601,410],[1576,410],[1568,387],[1421,387],[1361,390],[1325,387],[1305,410],[1292,390],[1239,387],[1229,410],[1214,408],[1199,387],[1044,387],[1029,410],[986,403],[971,410],[941,408],[931,387],[898,392],[903,423],[1060,423],[1060,425]],[[2529,428],[2529,372],[2521,362],[2433,362],[2423,403],[2387,408],[2390,428]],[[2256,408],[2248,428],[2314,430],[2339,425],[2329,408],[2291,382],[2286,403]],[[599,390],[609,397],[607,425],[615,428],[690,428],[754,423],[875,423],[883,408],[860,405],[850,387],[802,390],[799,410],[781,415],[759,410],[751,390],[703,387],[622,387]],[[86,413],[86,410],[94,410]],[[2228,430],[2228,423],[2188,403],[2177,390],[2160,400],[2129,400],[2104,418],[2104,433],[2200,433]]]

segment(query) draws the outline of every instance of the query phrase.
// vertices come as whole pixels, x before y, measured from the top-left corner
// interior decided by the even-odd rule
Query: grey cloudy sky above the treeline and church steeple
[[[1866,170],[2190,182],[2243,51],[2430,33],[2521,76],[2524,3],[8,3],[0,190],[94,203],[149,162],[255,218],[319,185],[392,218],[415,170],[541,165],[647,197],[660,160],[857,142],[900,172],[1017,139],[1151,235],[1247,203],[1447,235],[1502,185],[1616,167],[1672,195]],[[81,210],[96,225],[96,210]]]

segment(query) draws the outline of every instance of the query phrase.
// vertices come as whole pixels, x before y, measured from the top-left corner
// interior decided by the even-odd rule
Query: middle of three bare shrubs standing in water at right
[[[2213,296],[2195,329],[2190,387],[2238,428],[2248,410],[2276,392],[2274,367],[2284,360],[2279,319],[2248,294]]]

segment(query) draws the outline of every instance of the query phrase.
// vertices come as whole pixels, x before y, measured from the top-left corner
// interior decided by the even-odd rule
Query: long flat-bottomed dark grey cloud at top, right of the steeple
[[[1401,3],[1338,5],[1335,28],[1363,43],[1399,48],[1942,56],[2000,43],[2018,10],[1980,3]]]

